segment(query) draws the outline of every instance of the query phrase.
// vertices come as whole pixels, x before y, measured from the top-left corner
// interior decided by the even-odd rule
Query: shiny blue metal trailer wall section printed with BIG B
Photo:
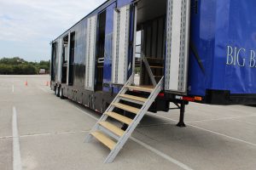
[[[192,0],[191,7],[189,94],[256,94],[256,1]]]

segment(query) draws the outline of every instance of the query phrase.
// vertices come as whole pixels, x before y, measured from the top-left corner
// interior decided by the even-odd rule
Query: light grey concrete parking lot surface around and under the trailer
[[[27,86],[25,85],[27,82]],[[101,116],[55,97],[49,76],[0,76],[0,169],[256,169],[256,107],[191,103],[179,112],[148,113],[123,150],[85,135]]]

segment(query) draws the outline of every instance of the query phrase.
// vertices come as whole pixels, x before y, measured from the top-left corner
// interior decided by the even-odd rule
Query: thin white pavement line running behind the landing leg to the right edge
[[[149,113],[149,114],[150,114],[150,115],[154,115],[154,116],[158,116],[158,117],[161,117],[161,118],[164,118],[164,119],[168,119],[168,120],[171,120],[171,121],[173,121],[173,122],[177,122],[176,120],[171,119],[171,118],[168,118],[168,117],[166,117],[166,116],[160,116],[160,115],[153,114],[153,113]],[[223,137],[228,138],[228,139],[233,139],[233,140],[239,141],[239,142],[241,142],[241,143],[245,143],[245,144],[250,144],[250,145],[256,146],[256,144],[253,144],[253,143],[251,143],[251,142],[247,142],[247,141],[242,140],[242,139],[236,139],[236,138],[234,138],[234,137],[231,137],[231,136],[226,135],[226,134],[223,134],[223,133],[218,133],[218,132],[215,132],[215,131],[212,131],[212,130],[208,130],[208,129],[203,128],[203,127],[197,127],[197,126],[191,125],[191,124],[189,124],[189,123],[187,123],[186,125],[189,126],[189,127],[198,128],[198,129],[203,130],[203,131],[206,131],[206,132],[208,132],[208,133],[214,133],[214,134],[217,134],[217,135],[219,135],[219,136],[223,136]]]

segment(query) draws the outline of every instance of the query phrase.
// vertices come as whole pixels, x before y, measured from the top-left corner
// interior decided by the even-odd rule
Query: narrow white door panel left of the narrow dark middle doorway
[[[96,27],[97,15],[87,20],[86,59],[85,59],[85,89],[94,91],[96,64]]]

